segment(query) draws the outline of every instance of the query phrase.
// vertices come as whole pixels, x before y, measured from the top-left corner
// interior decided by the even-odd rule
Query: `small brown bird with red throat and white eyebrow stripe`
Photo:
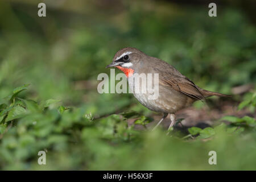
[[[135,73],[141,74],[158,73],[158,98],[150,99],[150,92],[135,93],[134,97],[148,109],[163,113],[163,118],[160,119],[154,129],[170,114],[171,124],[170,129],[175,123],[176,111],[190,106],[197,100],[204,100],[209,96],[230,97],[226,94],[211,92],[196,86],[189,78],[182,75],[177,69],[170,64],[156,57],[151,57],[139,51],[137,48],[123,48],[115,53],[113,62],[106,68],[115,67],[125,73],[129,87],[140,89],[143,84],[134,84]]]

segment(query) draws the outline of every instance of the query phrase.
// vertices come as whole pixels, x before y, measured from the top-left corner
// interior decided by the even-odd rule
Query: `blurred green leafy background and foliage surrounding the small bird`
[[[254,1],[217,2],[217,17],[208,16],[210,1],[43,2],[42,18],[40,1],[0,2],[0,169],[256,169]],[[98,74],[110,73],[105,66],[123,47],[232,94],[193,106],[224,114],[210,118],[209,132],[151,132],[147,123],[160,115],[132,94],[97,92]],[[208,163],[211,150],[217,165]]]

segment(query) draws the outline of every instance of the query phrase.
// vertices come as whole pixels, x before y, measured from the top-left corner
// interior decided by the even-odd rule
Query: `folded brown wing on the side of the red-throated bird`
[[[197,86],[189,80],[189,78],[183,76],[175,68],[171,67],[172,72],[170,73],[170,67],[165,71],[157,71],[159,74],[159,84],[164,86],[170,86],[171,88],[186,94],[189,97],[192,97],[196,100],[203,100],[204,96],[197,88]]]

